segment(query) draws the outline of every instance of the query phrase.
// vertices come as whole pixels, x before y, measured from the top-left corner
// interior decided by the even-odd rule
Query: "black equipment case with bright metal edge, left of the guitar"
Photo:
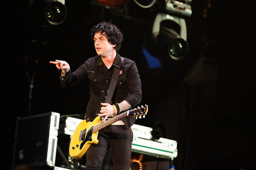
[[[54,166],[60,114],[17,117],[12,167]]]

